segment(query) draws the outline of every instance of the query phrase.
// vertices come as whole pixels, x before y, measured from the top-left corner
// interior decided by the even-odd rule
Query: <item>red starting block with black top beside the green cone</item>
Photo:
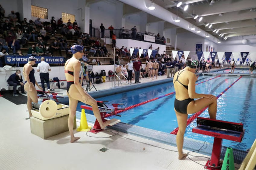
[[[205,169],[221,169],[220,154],[222,139],[241,142],[244,136],[242,123],[227,122],[216,119],[197,117],[197,127],[192,132],[214,137],[211,159],[206,162]]]

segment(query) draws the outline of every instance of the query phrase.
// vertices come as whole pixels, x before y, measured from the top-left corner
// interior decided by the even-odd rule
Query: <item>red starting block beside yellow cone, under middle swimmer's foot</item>
[[[123,105],[123,104],[112,104],[112,106],[114,108],[109,108],[104,102],[107,102],[107,101],[97,101],[97,104],[98,104],[98,108],[100,110],[100,114],[101,114],[101,119],[103,122],[106,122],[107,120],[105,119],[106,117],[106,114],[112,114],[112,115],[115,115],[115,116],[120,116],[120,115],[117,115],[115,114],[115,112],[117,110],[123,110],[123,108],[118,108],[118,105]],[[82,105],[81,106],[82,109],[87,109],[87,110],[92,110],[92,107],[89,106],[89,105]],[[111,123],[109,124],[110,126],[113,126],[117,123],[120,122],[120,119],[111,119],[110,120]],[[92,133],[98,133],[100,131],[103,131],[103,129],[101,129],[101,126],[98,122],[98,120],[96,119],[95,123],[94,123],[94,126],[93,128],[90,130],[90,132]]]

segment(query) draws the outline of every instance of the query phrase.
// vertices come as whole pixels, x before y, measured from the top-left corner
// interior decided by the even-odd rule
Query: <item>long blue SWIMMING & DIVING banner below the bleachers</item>
[[[17,56],[17,55],[6,55],[6,64],[26,64],[28,62],[29,56]],[[36,63],[40,63],[40,58],[44,57],[45,62],[49,64],[62,64],[65,62],[64,57],[49,57],[49,56],[34,56],[36,58]]]

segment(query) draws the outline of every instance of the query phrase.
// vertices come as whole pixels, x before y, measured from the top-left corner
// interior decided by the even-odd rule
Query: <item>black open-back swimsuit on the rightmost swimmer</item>
[[[185,71],[185,70],[183,70],[183,71]],[[182,73],[183,71],[181,71],[181,73]],[[184,88],[186,88],[186,89],[188,90],[187,85],[182,84],[182,83],[178,80],[178,78],[179,78],[179,76],[181,75],[181,73],[180,73],[180,71],[178,72],[177,79],[174,81],[174,83],[177,81],[177,82],[179,82],[181,85],[183,85]],[[185,99],[185,100],[177,100],[177,99],[175,98],[175,100],[174,100],[174,108],[175,108],[175,110],[176,110],[177,112],[187,114],[187,105],[188,105],[191,101],[194,101],[194,99],[188,98],[188,99]]]

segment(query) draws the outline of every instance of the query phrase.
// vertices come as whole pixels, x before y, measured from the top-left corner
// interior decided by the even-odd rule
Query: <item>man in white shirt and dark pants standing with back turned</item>
[[[43,91],[44,88],[44,81],[46,82],[48,92],[50,92],[50,82],[49,82],[49,71],[51,71],[50,65],[44,61],[44,57],[41,57],[41,63],[37,65],[37,71],[40,72],[40,80]]]

